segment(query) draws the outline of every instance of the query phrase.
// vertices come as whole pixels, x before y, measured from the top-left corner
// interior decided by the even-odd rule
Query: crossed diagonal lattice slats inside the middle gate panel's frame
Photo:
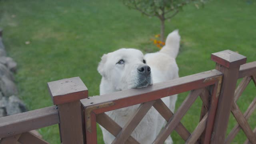
[[[162,129],[160,134],[154,140],[153,142],[154,144],[164,143],[166,138],[170,135],[170,133],[173,130],[176,130],[176,132],[183,138],[183,140],[186,141],[187,144],[194,144],[194,143],[198,144],[197,140],[201,136],[201,134],[204,132],[204,129],[206,127],[206,120],[208,117],[208,113],[206,112],[204,114],[204,116],[202,117],[201,121],[199,122],[198,126],[195,128],[194,132],[192,132],[192,134],[190,134],[190,132],[183,126],[180,120],[182,119],[184,114],[186,114],[190,106],[194,103],[194,101],[199,95],[203,101],[204,106],[206,107],[206,109],[208,109],[209,93],[208,91],[207,92],[206,91],[207,90],[204,88],[198,89],[198,90],[192,90],[175,114],[172,113],[172,111],[164,104],[164,102],[161,99],[142,103],[140,104],[139,108],[134,113],[134,115],[130,118],[130,120],[128,120],[124,128],[121,128],[118,124],[116,124],[116,122],[114,122],[114,120],[112,120],[105,113],[97,114],[96,121],[98,122],[98,124],[103,126],[106,130],[108,130],[111,134],[116,136],[112,144],[120,144],[120,143],[139,144],[138,141],[136,141],[131,136],[131,134],[136,128],[136,126],[138,126],[142,118],[146,115],[148,110],[150,110],[150,108],[154,106],[154,108],[167,121],[166,126]]]

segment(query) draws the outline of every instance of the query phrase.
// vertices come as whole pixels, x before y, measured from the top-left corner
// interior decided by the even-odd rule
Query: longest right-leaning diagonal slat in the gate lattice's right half
[[[156,137],[153,144],[163,144],[166,138],[170,135],[170,133],[174,130],[174,128],[179,124],[180,120],[186,114],[190,106],[194,103],[196,98],[202,92],[202,89],[192,90],[190,94],[186,97],[184,102],[182,102],[180,108],[178,108],[177,112],[172,116],[172,119],[168,121],[166,126],[161,130],[160,134]]]

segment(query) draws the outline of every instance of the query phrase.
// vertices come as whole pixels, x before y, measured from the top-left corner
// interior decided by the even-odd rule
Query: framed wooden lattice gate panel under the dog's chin
[[[185,141],[187,140],[192,143],[196,142],[205,129],[208,115],[206,114],[206,116],[202,116],[202,120],[192,134],[186,130],[186,128],[180,123],[180,120],[199,95],[201,95],[205,108],[210,108],[209,116],[214,116],[218,102],[218,91],[220,90],[221,79],[221,72],[211,70],[163,83],[153,84],[152,86],[148,86],[143,89],[124,90],[81,100],[81,103],[84,106],[86,142],[88,144],[97,143],[96,122],[98,122],[111,134],[116,136],[113,144],[120,144],[121,141],[125,142],[128,138],[129,141],[133,140],[132,143],[135,143],[134,138],[130,135],[151,106],[154,106],[154,108],[156,108],[156,110],[168,122],[162,132],[160,132],[161,135],[158,135],[154,143],[163,143],[175,128],[178,134],[180,134]],[[211,103],[209,103],[207,94],[209,92],[205,87],[212,85],[214,86],[214,96],[211,97],[212,100]],[[171,112],[160,99],[186,91],[191,92],[175,114],[173,114],[173,112]],[[136,104],[140,104],[140,107],[135,112],[134,116],[128,120],[124,128],[118,126],[118,124],[104,114],[104,112],[108,112],[110,110],[116,110]],[[140,118],[138,118],[138,116]],[[212,131],[214,118],[210,118],[209,120],[210,122],[208,121],[206,126],[208,128],[206,129],[206,134],[207,136],[209,135],[208,137],[210,137]]]

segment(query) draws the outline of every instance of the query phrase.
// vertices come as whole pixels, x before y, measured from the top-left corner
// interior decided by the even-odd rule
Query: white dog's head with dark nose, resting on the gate
[[[151,70],[140,50],[122,48],[104,54],[98,72],[116,90],[142,88],[152,84]]]

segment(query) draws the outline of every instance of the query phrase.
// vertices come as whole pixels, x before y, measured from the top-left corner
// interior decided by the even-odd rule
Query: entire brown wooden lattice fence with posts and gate
[[[256,144],[256,128],[252,130],[247,122],[256,98],[244,114],[236,104],[251,80],[256,85],[256,62],[245,64],[245,56],[230,50],[212,54],[212,60],[214,70],[101,96],[88,97],[79,77],[48,82],[56,106],[0,118],[0,144],[48,144],[29,131],[53,124],[59,124],[62,144],[96,144],[96,123],[116,136],[112,144],[138,144],[131,134],[152,106],[167,122],[153,144],[163,144],[174,130],[187,144],[229,144],[240,129],[248,138],[246,144]],[[239,78],[243,79],[236,88]],[[175,113],[160,99],[187,91]],[[200,122],[190,133],[180,120],[198,96],[202,100]],[[136,104],[140,104],[138,110],[123,128],[104,113]],[[238,124],[226,137],[230,112]]]

